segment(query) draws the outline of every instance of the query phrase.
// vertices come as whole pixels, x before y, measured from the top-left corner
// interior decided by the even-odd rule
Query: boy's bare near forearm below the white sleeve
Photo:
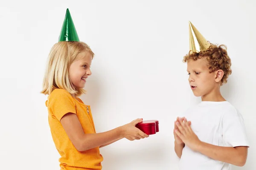
[[[221,147],[206,142],[200,142],[197,151],[212,159],[236,166],[243,166],[247,159],[247,154],[240,154],[238,148]]]

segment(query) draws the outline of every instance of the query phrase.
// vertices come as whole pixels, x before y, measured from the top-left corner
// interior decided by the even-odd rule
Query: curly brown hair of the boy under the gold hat
[[[227,83],[227,78],[232,73],[231,70],[231,59],[227,55],[227,46],[226,45],[214,45],[210,44],[209,48],[205,51],[193,52],[189,51],[189,54],[183,57],[183,62],[187,62],[190,59],[194,61],[206,57],[208,61],[209,73],[217,70],[223,70],[224,75],[221,79],[221,85]]]

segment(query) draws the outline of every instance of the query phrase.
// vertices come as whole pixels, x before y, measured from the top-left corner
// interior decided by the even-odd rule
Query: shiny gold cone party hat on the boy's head
[[[197,40],[196,42],[195,39]],[[209,46],[210,44],[207,42],[204,36],[189,21],[189,51],[205,51],[207,48],[209,48]]]

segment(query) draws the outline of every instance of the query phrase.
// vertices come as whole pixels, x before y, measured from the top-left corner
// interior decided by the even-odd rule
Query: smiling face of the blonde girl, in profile
[[[79,55],[84,55],[84,53]],[[86,55],[78,57],[81,57],[81,59],[70,65],[70,80],[75,88],[84,88],[87,77],[92,74],[90,71],[92,56],[90,53],[86,53]]]

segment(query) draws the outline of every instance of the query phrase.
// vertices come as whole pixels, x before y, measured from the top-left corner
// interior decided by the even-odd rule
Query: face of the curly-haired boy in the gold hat
[[[209,73],[207,60],[205,58],[187,62],[187,72],[189,73],[189,85],[195,96],[206,96],[218,85],[216,83],[216,73]]]

